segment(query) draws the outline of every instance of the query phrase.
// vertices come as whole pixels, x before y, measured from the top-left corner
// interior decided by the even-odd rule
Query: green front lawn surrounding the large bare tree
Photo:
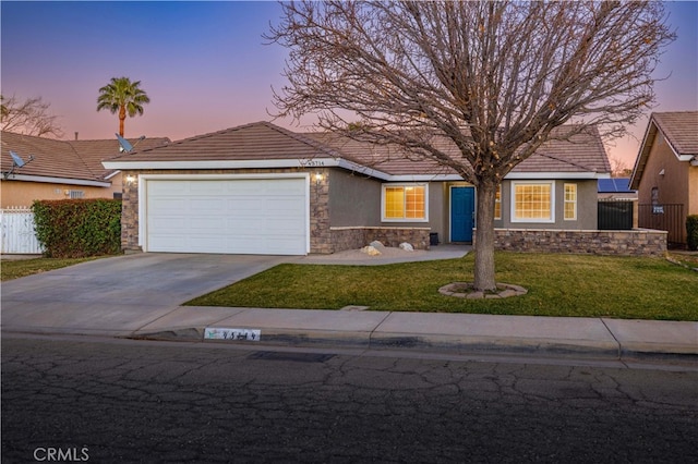
[[[497,253],[495,260],[497,282],[522,285],[527,295],[440,294],[442,285],[472,280],[469,254],[386,266],[285,264],[188,305],[698,320],[698,272],[665,259]]]

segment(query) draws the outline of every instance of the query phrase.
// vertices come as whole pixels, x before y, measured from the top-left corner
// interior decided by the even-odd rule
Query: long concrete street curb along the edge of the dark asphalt
[[[605,361],[678,361],[698,365],[698,346],[647,342],[578,341],[493,335],[410,334],[375,331],[293,330],[264,328],[260,341],[204,339],[204,327],[172,328],[154,332],[112,330],[56,330],[55,328],[2,328],[7,333],[94,335],[130,340],[215,343],[228,345],[417,351],[457,355],[537,356]]]

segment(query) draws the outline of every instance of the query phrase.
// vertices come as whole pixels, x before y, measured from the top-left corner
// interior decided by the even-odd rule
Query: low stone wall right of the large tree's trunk
[[[666,232],[495,229],[495,249],[533,253],[577,253],[619,256],[664,256]],[[474,245],[474,243],[473,243]]]

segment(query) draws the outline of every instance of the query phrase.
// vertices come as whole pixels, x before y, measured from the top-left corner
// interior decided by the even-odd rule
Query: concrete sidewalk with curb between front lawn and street
[[[179,307],[129,337],[206,340],[206,328],[260,330],[263,344],[413,349],[605,359],[679,357],[698,363],[698,322],[315,309]]]

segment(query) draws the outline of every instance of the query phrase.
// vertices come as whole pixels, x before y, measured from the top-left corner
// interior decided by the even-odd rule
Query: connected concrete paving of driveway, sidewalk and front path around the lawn
[[[420,258],[458,257],[467,249],[434,252]],[[594,359],[670,357],[698,365],[698,322],[181,306],[279,262],[380,264],[356,260],[365,262],[347,256],[178,254],[84,262],[3,282],[2,331]],[[226,338],[206,338],[210,329]],[[251,331],[260,339],[238,339],[257,333]]]

